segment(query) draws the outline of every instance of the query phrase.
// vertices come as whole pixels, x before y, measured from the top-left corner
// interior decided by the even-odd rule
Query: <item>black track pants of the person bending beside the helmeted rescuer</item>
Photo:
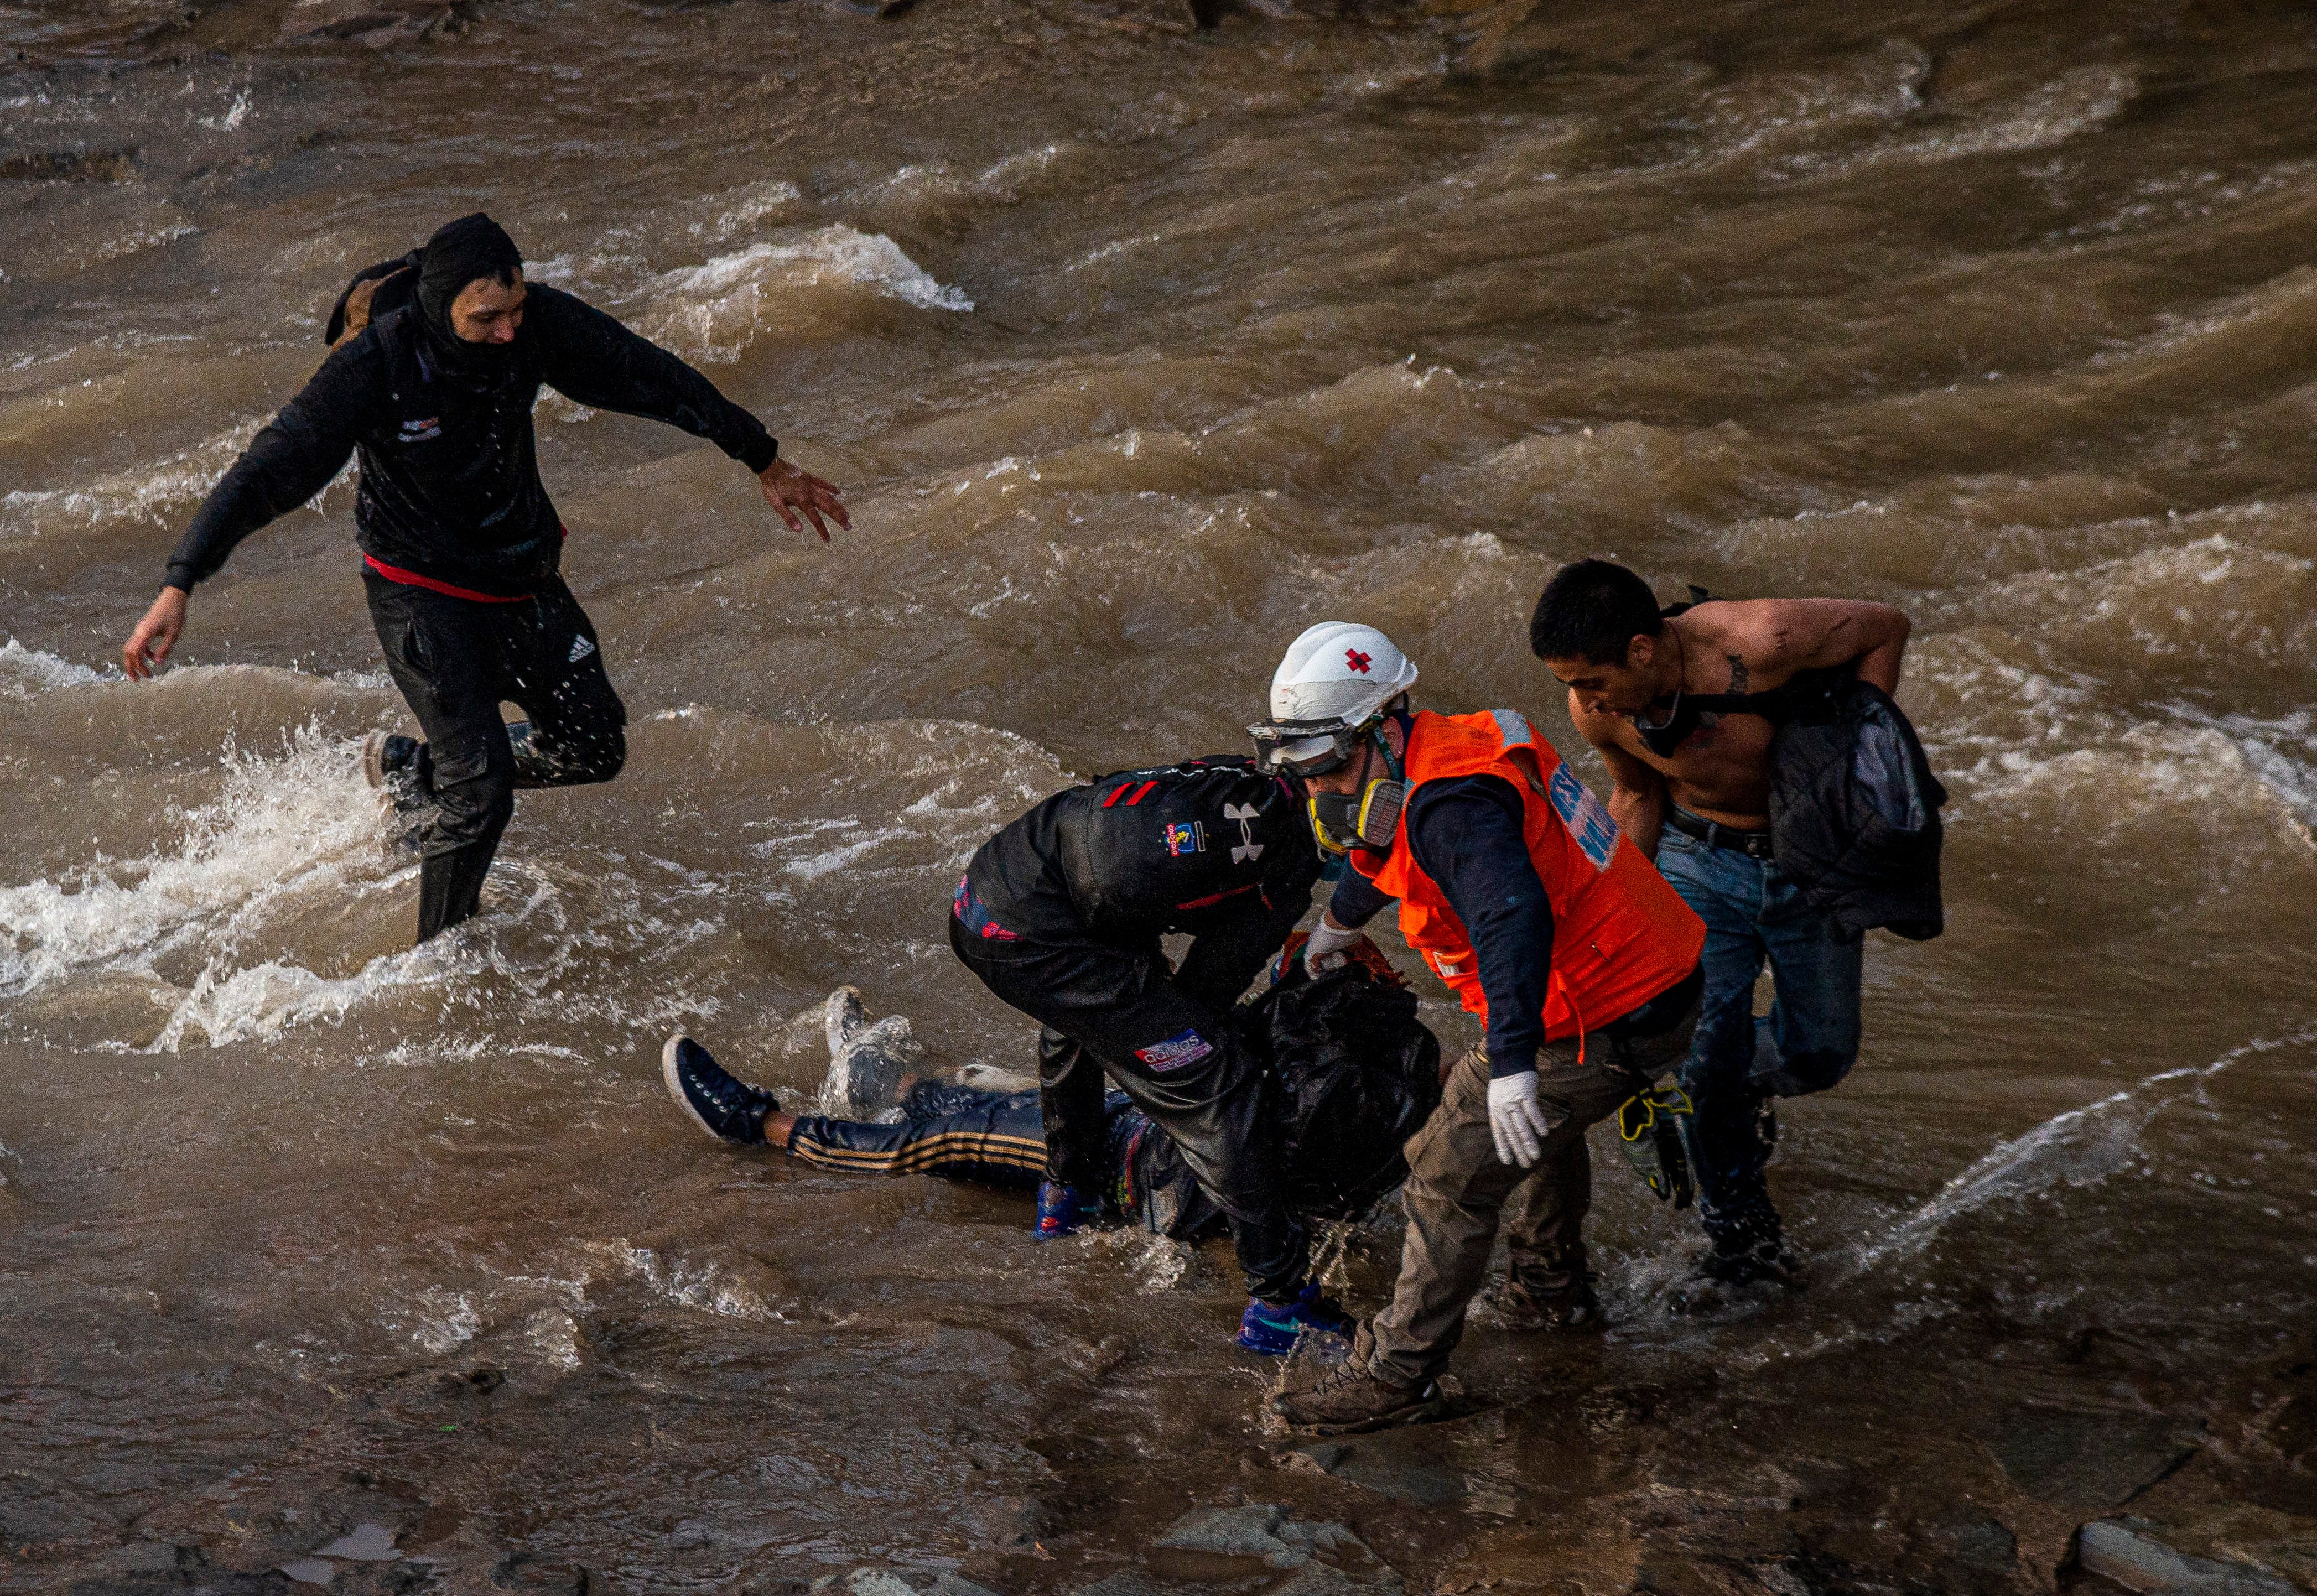
[[[1045,1026],[1038,1084],[1047,1179],[1089,1193],[1103,1188],[1108,1070],[1230,1216],[1249,1295],[1293,1300],[1304,1283],[1309,1246],[1279,1195],[1263,1070],[1223,1024],[1223,1005],[1235,994],[1216,1001],[1186,989],[1168,973],[1156,938],[1149,947],[1008,943],[978,938],[952,915],[950,947],[989,991]]]

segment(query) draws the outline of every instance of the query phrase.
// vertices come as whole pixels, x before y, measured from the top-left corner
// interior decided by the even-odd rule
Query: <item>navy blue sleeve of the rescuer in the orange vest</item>
[[[1529,862],[1520,795],[1497,776],[1427,781],[1409,801],[1409,848],[1481,957],[1490,1075],[1534,1070],[1545,1045],[1552,899]]]

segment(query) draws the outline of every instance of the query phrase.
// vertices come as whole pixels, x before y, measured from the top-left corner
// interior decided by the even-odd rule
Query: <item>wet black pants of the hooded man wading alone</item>
[[[554,579],[517,605],[484,605],[364,572],[371,623],[394,686],[426,732],[419,774],[433,808],[419,827],[419,940],[482,901],[517,788],[612,781],[628,760],[628,711],[602,674],[579,600]],[[531,716],[507,737],[500,700]]]

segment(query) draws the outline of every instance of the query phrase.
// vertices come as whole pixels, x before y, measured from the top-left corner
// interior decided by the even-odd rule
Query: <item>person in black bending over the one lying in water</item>
[[[1307,836],[1302,788],[1244,753],[1117,771],[982,843],[950,908],[959,961],[1040,1026],[1038,1237],[1121,1207],[1108,1077],[1228,1216],[1249,1297],[1240,1346],[1272,1355],[1304,1330],[1351,1330],[1311,1281],[1263,1059],[1233,1019],[1311,910]],[[1168,934],[1191,938],[1179,964]]]

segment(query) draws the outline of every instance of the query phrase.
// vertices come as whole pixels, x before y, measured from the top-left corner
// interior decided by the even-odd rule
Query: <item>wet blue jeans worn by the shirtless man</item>
[[[1705,998],[1682,1066],[1682,1091],[1698,1110],[1698,1218],[1717,1242],[1770,1242],[1779,1235],[1763,1179],[1775,1133],[1770,1098],[1826,1091],[1858,1061],[1865,938],[1844,936],[1775,864],[1735,848],[1708,848],[1666,827],[1657,869],[1705,922]],[[1763,959],[1777,1001],[1756,1019]]]

